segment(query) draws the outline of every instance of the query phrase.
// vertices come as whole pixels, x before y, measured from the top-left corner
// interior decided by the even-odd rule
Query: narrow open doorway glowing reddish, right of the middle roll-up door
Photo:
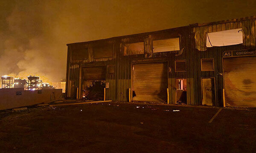
[[[187,104],[187,82],[186,79],[176,79],[176,104]]]

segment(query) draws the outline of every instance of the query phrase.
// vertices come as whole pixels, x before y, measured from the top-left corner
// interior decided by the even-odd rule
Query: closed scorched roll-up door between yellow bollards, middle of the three
[[[133,101],[166,102],[167,78],[167,65],[165,63],[134,65]]]

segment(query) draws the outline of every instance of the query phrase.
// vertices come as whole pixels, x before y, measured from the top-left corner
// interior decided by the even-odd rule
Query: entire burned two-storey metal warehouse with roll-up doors
[[[256,107],[256,17],[67,46],[72,99]]]

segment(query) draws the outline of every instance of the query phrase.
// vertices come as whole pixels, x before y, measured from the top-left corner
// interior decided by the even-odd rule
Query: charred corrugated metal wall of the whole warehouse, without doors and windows
[[[115,74],[106,74],[106,82],[109,82],[109,88],[106,89],[106,99],[114,101],[127,102],[129,100],[128,90],[132,86],[132,65],[143,62],[167,62],[168,63],[168,88],[169,101],[175,103],[175,79],[187,79],[187,104],[201,105],[201,78],[215,78],[215,96],[214,105],[222,106],[222,89],[223,89],[223,70],[222,70],[222,53],[223,51],[241,50],[255,48],[256,44],[256,21],[251,20],[232,20],[230,22],[211,23],[208,25],[186,26],[164,31],[137,34],[132,37],[117,37],[108,40],[113,44],[113,57],[111,58],[93,58],[93,46],[99,45],[100,42],[69,44],[68,50],[73,48],[89,48],[89,58],[86,60],[69,59],[68,53],[67,67],[70,67],[69,79],[76,79],[76,85],[79,86],[79,68],[90,65],[115,65]],[[244,33],[243,45],[231,45],[224,47],[206,47],[207,32],[229,30],[242,28]],[[180,37],[180,51],[152,53],[152,41]],[[107,40],[105,40],[107,41]],[[145,54],[123,56],[120,43],[134,43],[144,41]],[[201,71],[201,59],[213,58],[215,71]],[[175,60],[186,59],[186,72],[175,72]],[[70,64],[69,64],[70,61]],[[77,68],[76,65],[79,65]],[[67,68],[68,74],[68,68]],[[68,77],[68,75],[67,75]],[[132,90],[131,90],[132,91]]]

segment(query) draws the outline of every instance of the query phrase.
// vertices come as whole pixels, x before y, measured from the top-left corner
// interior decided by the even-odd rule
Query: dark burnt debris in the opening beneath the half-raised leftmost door
[[[106,83],[103,81],[93,81],[90,86],[84,90],[84,99],[86,100],[103,100],[104,88]]]

